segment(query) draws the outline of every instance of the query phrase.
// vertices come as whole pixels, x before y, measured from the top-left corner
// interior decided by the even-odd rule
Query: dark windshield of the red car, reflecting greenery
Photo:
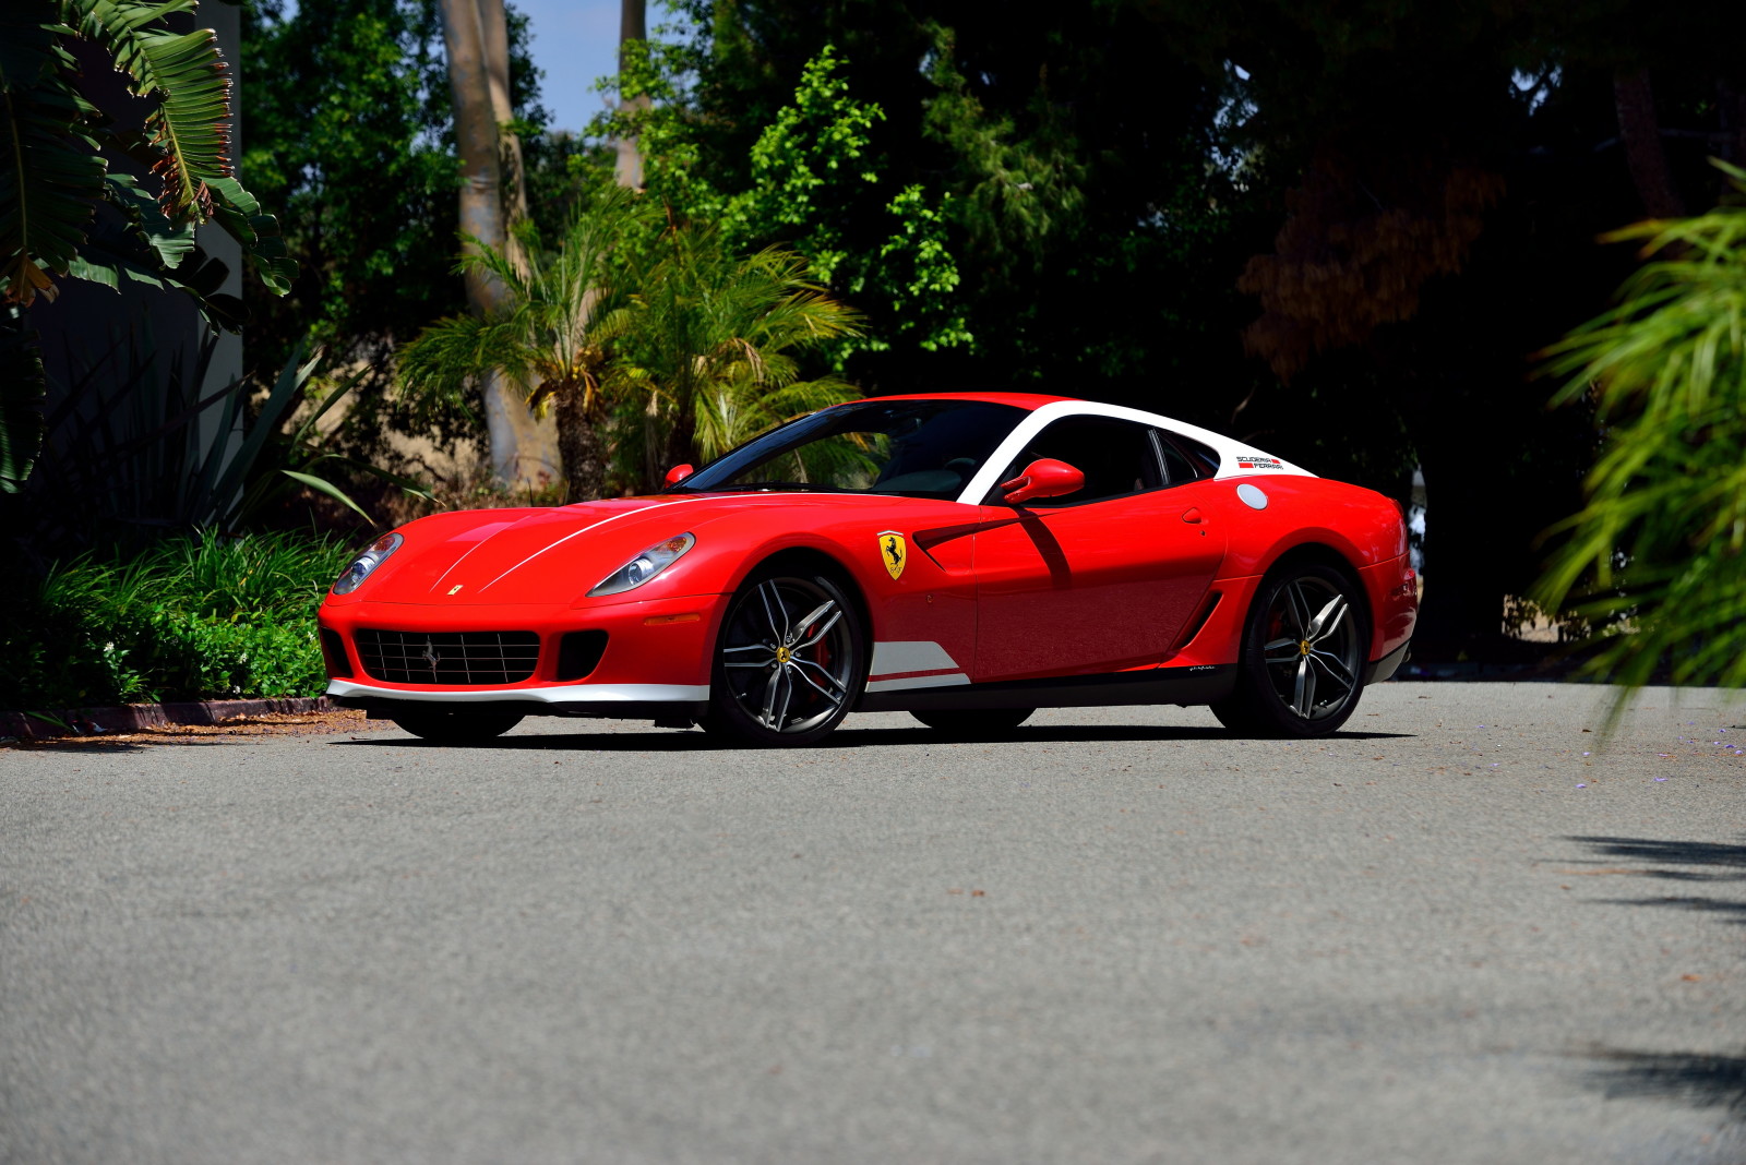
[[[857,401],[772,429],[674,490],[955,499],[1023,417],[1023,408],[983,401]]]

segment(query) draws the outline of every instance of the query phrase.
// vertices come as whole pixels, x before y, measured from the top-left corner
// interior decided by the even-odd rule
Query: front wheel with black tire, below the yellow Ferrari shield
[[[866,675],[866,631],[836,576],[760,570],[728,602],[702,726],[732,745],[817,745],[861,699]]]

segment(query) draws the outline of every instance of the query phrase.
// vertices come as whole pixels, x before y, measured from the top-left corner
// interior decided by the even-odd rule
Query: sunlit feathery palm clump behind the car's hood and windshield
[[[662,228],[622,188],[578,213],[555,249],[533,228],[522,239],[526,267],[503,248],[461,258],[503,283],[508,307],[431,324],[402,349],[396,378],[447,399],[487,373],[534,385],[529,403],[557,410],[573,501],[606,494],[608,476],[653,488],[672,464],[852,394],[835,377],[800,378],[794,354],[856,335],[859,316],[793,251],[732,255],[712,228]]]

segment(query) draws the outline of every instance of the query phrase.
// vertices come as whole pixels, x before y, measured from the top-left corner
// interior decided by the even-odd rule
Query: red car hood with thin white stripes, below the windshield
[[[726,516],[754,516],[770,530],[815,528],[843,511],[876,521],[911,504],[939,506],[864,494],[662,494],[557,509],[436,514],[403,527],[402,548],[349,598],[443,605],[571,603],[655,542],[698,532]],[[749,511],[772,513],[765,518]],[[733,548],[711,544],[705,551],[700,546],[688,558],[723,549]],[[670,567],[676,584],[683,586],[688,565],[681,560]],[[344,600],[330,596],[328,602]]]

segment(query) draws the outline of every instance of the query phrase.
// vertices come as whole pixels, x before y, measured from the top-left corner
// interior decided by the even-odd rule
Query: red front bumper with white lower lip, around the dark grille
[[[327,694],[335,703],[391,713],[400,705],[515,705],[527,715],[684,717],[709,701],[711,647],[723,595],[559,605],[436,605],[354,602],[323,607]],[[515,684],[405,684],[370,675],[358,654],[360,630],[402,633],[533,631],[540,656]],[[559,678],[560,642],[573,631],[604,631],[594,668]]]

